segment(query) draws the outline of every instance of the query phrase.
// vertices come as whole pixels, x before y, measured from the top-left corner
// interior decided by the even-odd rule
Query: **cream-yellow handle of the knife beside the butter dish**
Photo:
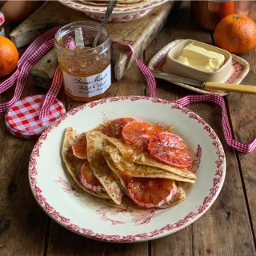
[[[206,89],[226,90],[242,94],[256,94],[256,86],[236,85],[231,83],[206,82]]]

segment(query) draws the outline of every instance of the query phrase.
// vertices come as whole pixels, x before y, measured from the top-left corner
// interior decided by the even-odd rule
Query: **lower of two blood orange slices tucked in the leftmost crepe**
[[[82,182],[82,185],[89,190],[93,190],[97,193],[106,192],[106,190],[102,186],[102,183],[99,182],[98,178],[94,176],[93,171],[90,169],[89,162],[87,161],[81,167],[80,181]]]

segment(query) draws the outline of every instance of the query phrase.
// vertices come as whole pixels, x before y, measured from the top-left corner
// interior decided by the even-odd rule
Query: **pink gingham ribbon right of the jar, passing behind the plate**
[[[120,42],[115,42],[115,43],[120,44]],[[122,44],[122,46],[129,47],[129,49],[131,50],[132,54],[134,55],[134,60],[135,60],[136,64],[142,70],[142,73],[146,77],[146,82],[149,87],[150,97],[156,97],[156,93],[155,93],[156,82],[155,82],[155,78],[154,78],[153,74],[150,72],[148,67],[137,58],[132,46],[130,46],[129,44],[125,44],[125,43],[121,43],[121,44]],[[222,130],[223,130],[223,133],[224,133],[224,136],[226,139],[226,143],[229,146],[233,147],[234,149],[236,149],[242,153],[250,153],[251,151],[253,151],[256,148],[256,138],[254,138],[254,141],[251,142],[250,144],[237,142],[232,138],[229,119],[226,115],[225,101],[221,96],[219,96],[217,94],[197,94],[197,95],[189,95],[189,96],[186,96],[184,98],[180,98],[180,99],[174,101],[174,103],[177,103],[181,106],[186,106],[186,105],[188,105],[190,103],[194,103],[194,102],[214,102],[222,107]]]

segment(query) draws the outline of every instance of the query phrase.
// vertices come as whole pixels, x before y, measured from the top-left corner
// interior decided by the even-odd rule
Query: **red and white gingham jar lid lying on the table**
[[[62,102],[55,98],[49,114],[39,118],[45,95],[27,96],[15,102],[6,111],[6,127],[18,138],[38,138],[52,122],[66,113]]]

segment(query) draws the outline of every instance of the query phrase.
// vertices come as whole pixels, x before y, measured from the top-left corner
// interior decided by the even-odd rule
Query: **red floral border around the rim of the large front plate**
[[[178,104],[172,103],[171,109],[175,110],[181,110],[183,114],[186,114],[189,116],[189,118],[193,118],[196,120],[201,126],[203,126],[203,129],[206,130],[206,132],[209,134],[212,145],[214,146],[216,150],[216,154],[218,155],[218,160],[215,162],[215,171],[214,171],[214,179],[212,187],[210,188],[209,194],[204,198],[203,202],[200,206],[198,206],[198,209],[195,211],[191,211],[189,214],[186,214],[185,218],[182,218],[178,220],[178,222],[175,222],[174,224],[168,224],[166,226],[162,226],[162,228],[158,230],[152,230],[149,233],[142,233],[142,234],[134,234],[134,235],[107,235],[107,234],[98,234],[94,233],[93,230],[87,229],[86,227],[78,226],[72,222],[70,222],[69,218],[66,218],[65,216],[62,216],[61,213],[58,212],[58,210],[54,209],[53,206],[50,206],[50,204],[46,201],[46,198],[43,196],[43,191],[38,187],[37,182],[37,158],[40,157],[40,150],[42,147],[42,142],[46,140],[48,134],[50,134],[51,130],[58,127],[59,124],[65,120],[69,115],[74,115],[80,110],[84,110],[86,108],[94,108],[94,106],[98,106],[99,104],[104,104],[106,102],[116,102],[116,101],[126,101],[130,100],[131,102],[138,101],[138,100],[148,100],[151,102],[160,102],[162,104],[168,104],[170,105],[171,102],[168,102],[166,100],[162,100],[159,98],[148,98],[143,96],[123,96],[123,97],[113,97],[113,98],[103,98],[101,100],[98,100],[96,102],[90,102],[86,105],[78,106],[74,110],[71,110],[66,115],[59,118],[54,124],[50,127],[48,127],[44,133],[41,135],[41,137],[38,139],[38,142],[34,146],[34,150],[32,151],[32,154],[30,156],[30,165],[29,165],[29,177],[30,177],[30,186],[31,189],[34,192],[34,197],[42,206],[42,209],[46,211],[47,214],[49,214],[52,218],[54,218],[57,222],[59,222],[62,226],[65,226],[67,229],[80,234],[82,236],[86,236],[89,238],[94,238],[102,241],[108,241],[108,242],[137,242],[139,240],[150,240],[154,237],[161,237],[164,234],[166,234],[170,230],[176,229],[176,231],[181,230],[182,228],[185,228],[189,225],[189,222],[191,220],[198,219],[208,208],[211,206],[211,204],[214,202],[215,196],[218,195],[218,192],[221,188],[221,182],[222,177],[224,175],[224,166],[225,166],[225,154],[222,150],[222,145],[218,140],[217,135],[214,133],[214,130],[197,114],[194,112],[186,109],[186,107],[180,106]]]

